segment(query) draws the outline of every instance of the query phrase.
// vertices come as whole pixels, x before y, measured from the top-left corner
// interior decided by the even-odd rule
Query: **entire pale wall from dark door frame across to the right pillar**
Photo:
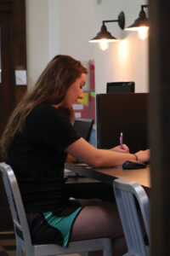
[[[145,0],[146,1],[146,0]],[[146,2],[145,2],[146,3]],[[48,61],[57,54],[72,55],[86,66],[95,60],[96,92],[107,82],[134,81],[137,92],[149,90],[148,40],[136,32],[122,31],[117,22],[108,30],[123,38],[104,52],[88,40],[99,32],[102,20],[116,20],[125,13],[129,26],[139,15],[144,0],[26,0],[27,72],[31,88]]]

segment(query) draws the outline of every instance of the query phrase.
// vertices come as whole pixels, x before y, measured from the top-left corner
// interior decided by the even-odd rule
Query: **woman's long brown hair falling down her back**
[[[88,73],[81,61],[68,55],[56,55],[44,69],[34,88],[26,93],[8,119],[1,137],[0,148],[3,159],[8,158],[8,150],[14,137],[22,131],[26,116],[42,102],[59,104],[65,98],[66,91],[82,73]]]

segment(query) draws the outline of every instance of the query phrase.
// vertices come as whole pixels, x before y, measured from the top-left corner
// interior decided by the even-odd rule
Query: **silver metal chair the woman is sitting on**
[[[12,168],[5,163],[0,163],[0,170],[2,172],[3,183],[14,222],[17,256],[21,256],[22,252],[25,252],[26,256],[52,256],[100,250],[104,252],[105,256],[112,256],[110,238],[72,241],[69,243],[69,247],[66,248],[55,244],[32,244],[30,230],[26,220],[26,212],[21,200],[20,189],[14,176],[14,172]]]

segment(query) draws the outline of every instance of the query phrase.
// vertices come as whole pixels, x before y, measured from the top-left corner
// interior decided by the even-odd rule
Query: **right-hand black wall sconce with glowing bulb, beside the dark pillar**
[[[146,17],[146,14],[144,12],[144,8],[146,7],[148,7],[148,4],[141,5],[139,18],[134,20],[131,26],[128,26],[127,28],[125,28],[125,30],[127,31],[138,31],[139,38],[143,40],[148,37],[148,31],[149,31],[149,19]]]

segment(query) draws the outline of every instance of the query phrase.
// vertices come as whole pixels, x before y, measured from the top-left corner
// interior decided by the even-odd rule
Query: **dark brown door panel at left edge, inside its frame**
[[[0,10],[0,132],[14,108],[14,61],[11,13]]]

